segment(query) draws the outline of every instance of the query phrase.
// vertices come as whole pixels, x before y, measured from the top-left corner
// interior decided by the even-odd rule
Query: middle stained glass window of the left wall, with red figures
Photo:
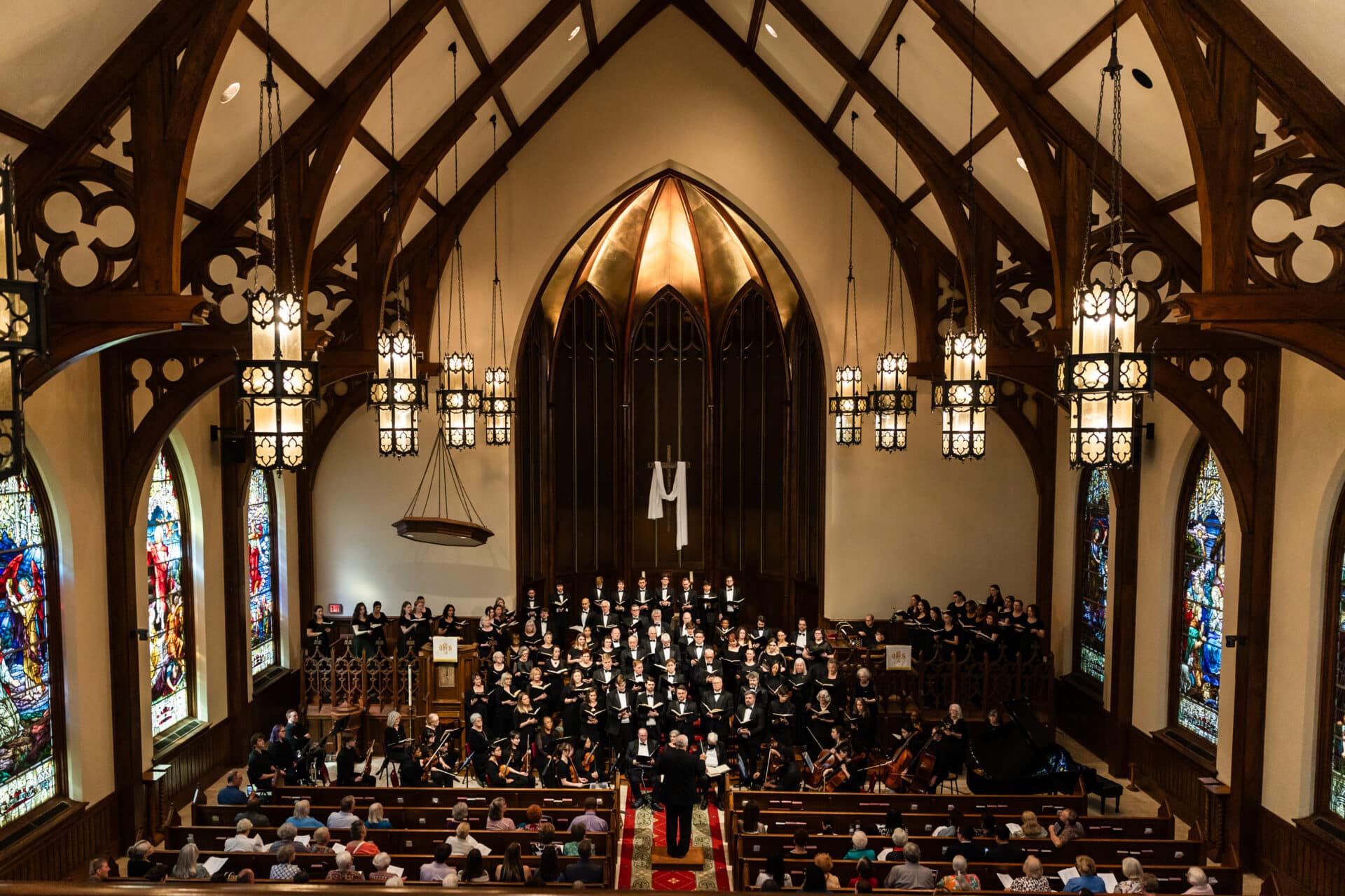
[[[149,728],[159,735],[191,715],[182,502],[167,449],[155,459],[145,528],[149,598]]]

